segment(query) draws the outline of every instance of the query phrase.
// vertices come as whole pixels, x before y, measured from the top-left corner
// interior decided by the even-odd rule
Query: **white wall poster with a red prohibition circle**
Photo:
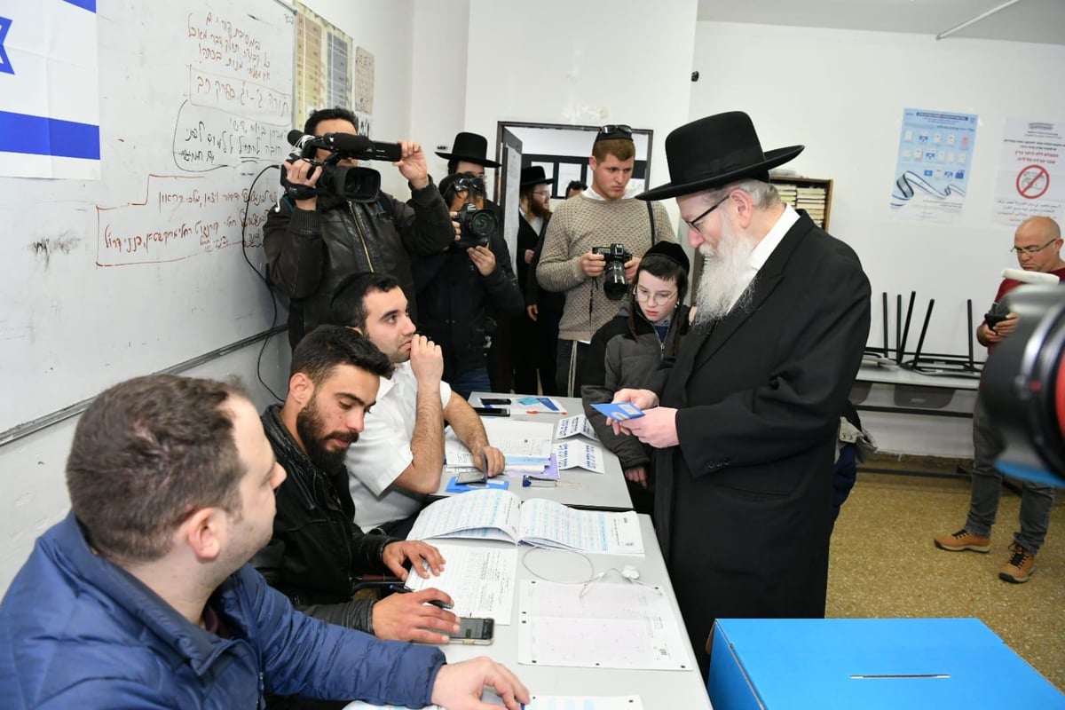
[[[995,176],[993,219],[1019,225],[1043,215],[1065,217],[1065,120],[1007,118]]]

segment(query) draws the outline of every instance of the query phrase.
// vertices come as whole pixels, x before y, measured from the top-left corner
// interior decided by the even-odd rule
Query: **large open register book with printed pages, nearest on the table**
[[[575,510],[543,498],[525,502],[509,491],[471,491],[426,506],[408,540],[475,538],[537,547],[643,555],[640,522],[633,511]]]

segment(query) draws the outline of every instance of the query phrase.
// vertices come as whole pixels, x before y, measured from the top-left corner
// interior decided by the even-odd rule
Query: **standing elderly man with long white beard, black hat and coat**
[[[666,138],[688,243],[706,258],[692,332],[616,425],[659,449],[658,539],[692,646],[721,617],[824,615],[839,415],[869,334],[869,280],[848,245],[781,202],[747,114]],[[708,656],[697,650],[704,674]]]

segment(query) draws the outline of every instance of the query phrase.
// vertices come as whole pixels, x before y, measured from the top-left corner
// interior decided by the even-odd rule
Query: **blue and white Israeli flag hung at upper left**
[[[0,176],[100,179],[97,0],[0,0]]]

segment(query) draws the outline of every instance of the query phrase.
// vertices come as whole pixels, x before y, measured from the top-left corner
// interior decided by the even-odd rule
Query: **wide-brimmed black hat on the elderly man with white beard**
[[[803,148],[788,146],[763,152],[754,123],[742,111],[700,118],[666,136],[670,182],[636,198],[663,200],[743,178],[768,181],[770,168],[787,163]]]

